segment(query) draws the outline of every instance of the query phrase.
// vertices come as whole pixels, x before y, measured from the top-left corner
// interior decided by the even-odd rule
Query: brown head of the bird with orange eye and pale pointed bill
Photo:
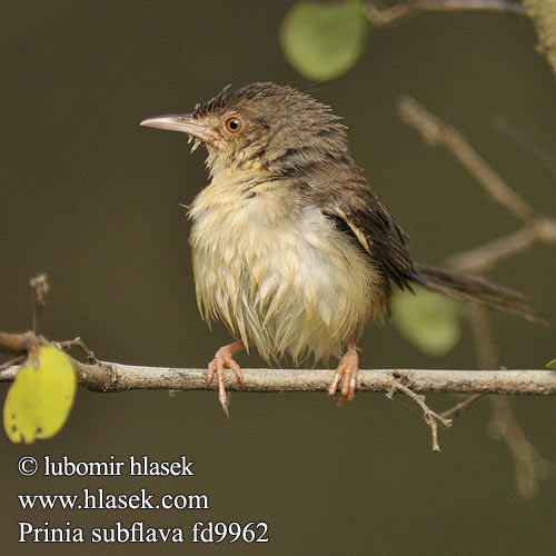
[[[191,113],[157,116],[141,126],[182,131],[203,142],[211,173],[228,170],[288,175],[307,165],[349,159],[345,127],[330,108],[291,87],[226,87]]]

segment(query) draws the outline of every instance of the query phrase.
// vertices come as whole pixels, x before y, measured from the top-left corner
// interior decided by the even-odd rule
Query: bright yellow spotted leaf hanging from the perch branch
[[[73,405],[76,385],[66,354],[53,346],[30,354],[3,406],[3,426],[10,440],[30,444],[54,436]]]

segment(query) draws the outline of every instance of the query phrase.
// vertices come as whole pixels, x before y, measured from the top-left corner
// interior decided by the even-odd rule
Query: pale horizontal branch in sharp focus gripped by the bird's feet
[[[71,358],[70,358],[71,359]],[[101,363],[86,365],[71,359],[81,386],[93,391],[125,390],[214,390],[207,385],[205,369],[140,367]],[[14,379],[18,367],[0,373],[0,381]],[[239,387],[231,375],[226,389],[238,391],[325,391],[334,370],[327,369],[242,369]],[[553,370],[428,370],[374,369],[359,371],[357,390],[388,393],[401,380],[416,394],[515,394],[556,395]]]

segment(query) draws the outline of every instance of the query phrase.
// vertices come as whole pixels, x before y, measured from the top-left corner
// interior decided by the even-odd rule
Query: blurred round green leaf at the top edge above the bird
[[[307,79],[326,81],[355,66],[365,43],[368,20],[359,2],[297,2],[280,28],[281,48]]]

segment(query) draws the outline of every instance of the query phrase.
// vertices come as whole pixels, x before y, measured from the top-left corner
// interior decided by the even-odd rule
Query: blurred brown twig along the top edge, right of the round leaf
[[[418,16],[429,11],[496,11],[525,16],[525,8],[517,2],[505,0],[410,0],[384,10],[367,2],[365,11],[369,21],[376,26],[388,26],[400,19]]]

